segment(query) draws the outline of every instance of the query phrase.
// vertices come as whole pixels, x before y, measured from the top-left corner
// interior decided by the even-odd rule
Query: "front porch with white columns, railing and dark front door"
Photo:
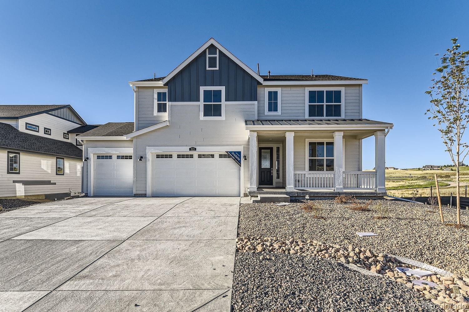
[[[386,195],[385,129],[392,124],[356,120],[247,120],[248,194]],[[375,170],[363,171],[362,140],[370,136],[375,138]]]

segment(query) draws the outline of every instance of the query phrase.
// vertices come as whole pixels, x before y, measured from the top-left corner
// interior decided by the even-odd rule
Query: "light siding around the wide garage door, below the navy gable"
[[[152,91],[153,92],[153,91]],[[244,155],[249,159],[249,131],[244,119],[254,118],[254,104],[226,104],[225,120],[200,120],[198,104],[173,105],[171,125],[137,136],[136,193],[146,194],[146,147],[147,146],[216,146],[243,145]],[[249,186],[249,162],[243,161],[244,187]]]

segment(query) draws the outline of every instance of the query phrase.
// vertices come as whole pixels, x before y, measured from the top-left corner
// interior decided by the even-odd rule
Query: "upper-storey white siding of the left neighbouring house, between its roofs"
[[[39,132],[34,132],[30,130],[26,130],[26,123],[30,123],[36,126],[39,126]],[[63,138],[63,133],[67,132],[68,130],[74,129],[80,125],[65,120],[61,119],[58,117],[55,117],[53,115],[49,114],[39,114],[39,115],[34,115],[30,117],[25,117],[22,119],[18,119],[18,130],[29,133],[29,134],[34,134],[34,135],[39,135],[39,136],[44,136],[46,138],[52,138],[55,140],[61,140],[61,141],[67,141],[71,142],[69,139],[64,139]],[[44,134],[44,128],[49,128],[51,129],[52,134]],[[75,143],[75,140],[73,141]]]

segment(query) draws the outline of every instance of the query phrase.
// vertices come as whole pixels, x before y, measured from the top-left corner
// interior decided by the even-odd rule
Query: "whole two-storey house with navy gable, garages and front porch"
[[[385,190],[392,123],[363,119],[366,79],[259,75],[213,38],[166,77],[129,82],[134,123],[83,140],[88,195]],[[133,127],[132,127],[133,126]],[[374,136],[376,171],[362,171]],[[132,178],[132,183],[130,179]]]

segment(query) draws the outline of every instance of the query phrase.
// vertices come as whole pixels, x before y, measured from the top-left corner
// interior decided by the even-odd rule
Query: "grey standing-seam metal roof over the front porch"
[[[392,125],[390,122],[370,119],[286,119],[244,120],[246,126],[343,126],[343,125]]]

